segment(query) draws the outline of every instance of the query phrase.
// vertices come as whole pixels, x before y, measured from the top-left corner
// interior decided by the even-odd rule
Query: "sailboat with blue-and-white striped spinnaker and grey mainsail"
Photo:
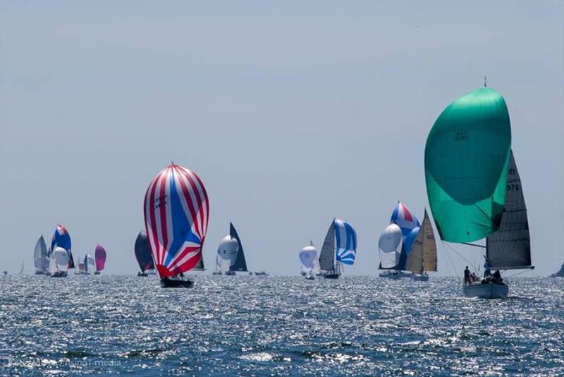
[[[346,221],[333,219],[319,253],[319,268],[326,279],[338,279],[342,265],[353,265],[357,251],[357,233]]]

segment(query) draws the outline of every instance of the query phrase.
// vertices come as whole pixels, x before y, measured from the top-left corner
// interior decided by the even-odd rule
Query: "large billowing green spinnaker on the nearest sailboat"
[[[441,239],[471,242],[496,232],[510,148],[507,106],[495,90],[474,90],[439,115],[425,145],[425,180]]]

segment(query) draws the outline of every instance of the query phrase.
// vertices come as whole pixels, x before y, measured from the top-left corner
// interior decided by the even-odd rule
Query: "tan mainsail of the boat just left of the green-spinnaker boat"
[[[431,220],[429,220],[429,216],[427,215],[427,210],[425,210],[421,227],[413,229],[413,232],[415,232],[416,236],[415,239],[411,241],[411,251],[405,263],[407,270],[411,270],[414,273],[420,273],[422,270],[436,271],[435,235],[433,233],[433,227],[431,226]],[[406,238],[408,239],[410,237],[408,236]]]

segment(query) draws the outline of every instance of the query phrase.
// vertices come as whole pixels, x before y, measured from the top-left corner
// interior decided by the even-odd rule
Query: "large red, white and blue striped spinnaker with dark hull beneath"
[[[208,216],[206,188],[195,172],[170,164],[154,177],[145,193],[145,228],[161,277],[200,261]]]

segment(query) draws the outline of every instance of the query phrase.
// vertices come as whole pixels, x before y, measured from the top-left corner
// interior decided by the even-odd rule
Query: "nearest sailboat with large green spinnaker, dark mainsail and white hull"
[[[465,297],[508,297],[499,270],[533,267],[509,114],[498,92],[484,85],[441,113],[425,145],[425,180],[441,239],[486,249],[484,279],[465,279]],[[484,238],[486,246],[472,244]]]

